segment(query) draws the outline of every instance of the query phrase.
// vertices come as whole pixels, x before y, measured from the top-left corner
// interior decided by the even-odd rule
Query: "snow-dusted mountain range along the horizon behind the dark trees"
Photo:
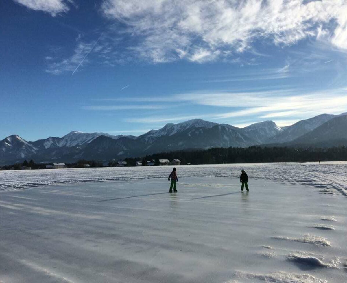
[[[138,137],[73,131],[62,138],[25,141],[18,135],[11,135],[0,141],[0,165],[22,162],[24,159],[35,162],[109,160],[184,149],[261,144],[347,145],[346,114],[322,114],[282,128],[272,121],[238,128],[194,119],[178,124],[169,123]]]

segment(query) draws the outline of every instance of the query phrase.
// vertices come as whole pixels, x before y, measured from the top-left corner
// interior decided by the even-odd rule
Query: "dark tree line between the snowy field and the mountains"
[[[179,159],[181,165],[186,164],[220,164],[220,163],[259,163],[259,162],[305,162],[305,161],[345,161],[347,160],[347,147],[332,148],[291,148],[291,147],[259,147],[248,148],[211,148],[207,150],[182,150],[162,152],[146,155],[145,157],[126,158],[126,166],[135,166],[136,161],[154,160],[159,165],[159,159]],[[102,162],[95,160],[78,160],[74,163],[66,163],[67,168],[83,168],[85,164],[90,167],[103,167]],[[24,161],[1,167],[2,170],[21,169],[45,169],[46,164],[35,163],[33,160]],[[109,163],[110,165],[110,163]]]

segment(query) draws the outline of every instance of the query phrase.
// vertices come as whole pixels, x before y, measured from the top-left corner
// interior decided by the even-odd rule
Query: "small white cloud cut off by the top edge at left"
[[[73,3],[71,0],[13,0],[29,9],[44,11],[55,17],[58,13],[67,12],[69,7],[66,2]]]

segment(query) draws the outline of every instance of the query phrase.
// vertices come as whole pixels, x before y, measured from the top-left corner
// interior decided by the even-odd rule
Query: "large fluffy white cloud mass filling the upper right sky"
[[[137,38],[132,51],[153,62],[211,61],[251,51],[256,40],[286,46],[310,37],[347,49],[345,0],[104,0],[101,7]]]

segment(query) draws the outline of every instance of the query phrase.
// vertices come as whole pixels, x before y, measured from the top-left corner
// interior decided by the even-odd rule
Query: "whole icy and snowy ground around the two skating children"
[[[345,163],[171,169],[0,172],[0,282],[347,281]]]

